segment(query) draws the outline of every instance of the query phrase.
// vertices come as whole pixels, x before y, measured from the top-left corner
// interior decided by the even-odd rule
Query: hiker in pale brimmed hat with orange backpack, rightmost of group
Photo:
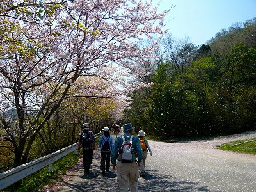
[[[151,148],[149,147],[148,140],[144,138],[145,135],[146,133],[143,130],[139,131],[138,137],[140,138],[141,149],[143,150],[143,161],[141,161],[141,164],[140,164],[140,171],[141,171],[142,177],[146,175],[145,163],[148,156],[148,152],[150,156],[152,156],[152,151],[151,151]]]

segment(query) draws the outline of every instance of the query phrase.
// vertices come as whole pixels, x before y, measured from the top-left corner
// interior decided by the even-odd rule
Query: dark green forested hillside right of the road
[[[256,126],[256,18],[222,29],[206,45],[171,35],[154,85],[129,95],[124,115],[154,136],[230,134]]]

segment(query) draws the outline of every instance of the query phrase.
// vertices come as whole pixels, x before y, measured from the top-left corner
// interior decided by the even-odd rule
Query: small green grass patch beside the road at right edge
[[[217,146],[217,148],[221,150],[230,150],[246,154],[256,154],[256,138],[252,138],[250,140],[237,140],[230,143],[224,143],[222,145]]]

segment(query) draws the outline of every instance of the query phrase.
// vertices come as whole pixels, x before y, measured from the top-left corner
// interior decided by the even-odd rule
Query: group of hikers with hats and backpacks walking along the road
[[[118,133],[113,142],[109,128],[104,127],[104,134],[100,136],[99,148],[101,150],[100,170],[101,175],[110,172],[110,161],[113,165],[113,170],[117,173],[117,182],[120,191],[138,191],[138,178],[145,177],[145,161],[149,152],[152,156],[152,151],[149,147],[148,140],[144,138],[146,133],[143,130],[134,136],[134,128],[131,123],[123,125],[124,135],[118,136]],[[116,134],[116,129],[114,129]],[[90,173],[90,166],[93,159],[93,150],[95,150],[95,138],[90,130],[88,123],[83,124],[83,131],[79,134],[78,151],[83,149],[83,166],[84,174]],[[140,168],[140,174],[139,174]]]

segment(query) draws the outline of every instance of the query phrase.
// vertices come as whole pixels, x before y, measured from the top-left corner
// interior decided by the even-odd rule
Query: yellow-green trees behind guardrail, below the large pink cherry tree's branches
[[[81,88],[84,90],[83,94],[79,93]],[[84,121],[93,127],[93,131],[100,132],[102,127],[113,124],[113,111],[119,106],[120,103],[113,97],[112,83],[101,77],[79,77],[60,107],[39,132],[40,138],[36,138],[36,143],[43,145],[34,145],[33,155],[39,156],[45,152],[49,154],[76,142]]]

